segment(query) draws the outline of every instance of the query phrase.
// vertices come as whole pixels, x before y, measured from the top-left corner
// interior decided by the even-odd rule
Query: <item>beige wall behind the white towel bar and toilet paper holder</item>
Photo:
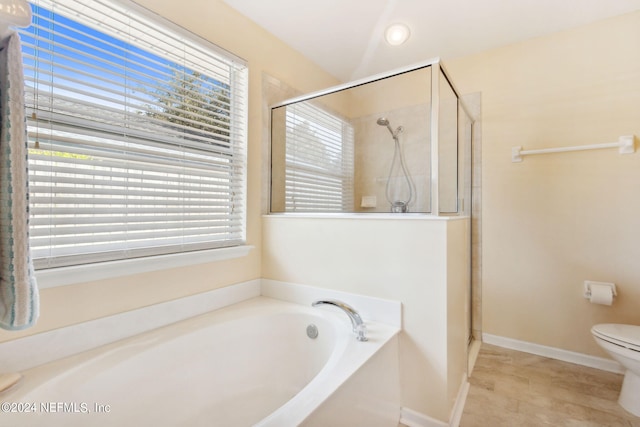
[[[640,148],[640,12],[447,62],[482,92],[483,331],[597,356],[589,329],[640,324],[640,153],[525,157],[617,141]],[[613,306],[582,297],[615,282]]]

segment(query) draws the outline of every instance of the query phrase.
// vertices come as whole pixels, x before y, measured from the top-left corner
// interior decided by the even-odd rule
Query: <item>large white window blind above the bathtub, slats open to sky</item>
[[[32,6],[21,38],[36,268],[243,244],[243,61],[132,2]]]

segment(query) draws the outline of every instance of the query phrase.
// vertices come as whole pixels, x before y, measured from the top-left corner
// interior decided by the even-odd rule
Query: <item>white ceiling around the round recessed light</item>
[[[346,82],[640,10],[640,0],[224,0]],[[410,39],[392,47],[387,25]]]

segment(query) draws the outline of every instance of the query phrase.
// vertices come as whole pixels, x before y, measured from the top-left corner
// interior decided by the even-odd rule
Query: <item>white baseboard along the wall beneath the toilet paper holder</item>
[[[563,350],[556,347],[548,347],[546,345],[534,344],[527,341],[520,341],[513,338],[506,338],[487,333],[482,334],[482,341],[486,342],[487,344],[497,345],[498,347],[524,351],[526,353],[537,354],[538,356],[562,360],[564,362],[575,363],[578,365],[588,366],[590,368],[596,368],[603,371],[614,372],[617,374],[624,374],[625,371],[622,365],[620,365],[615,360],[590,356],[588,354]]]

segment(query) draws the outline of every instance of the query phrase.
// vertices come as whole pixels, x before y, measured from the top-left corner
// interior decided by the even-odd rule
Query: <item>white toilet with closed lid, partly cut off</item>
[[[618,403],[640,417],[640,326],[605,323],[592,327],[591,333],[626,369]]]

